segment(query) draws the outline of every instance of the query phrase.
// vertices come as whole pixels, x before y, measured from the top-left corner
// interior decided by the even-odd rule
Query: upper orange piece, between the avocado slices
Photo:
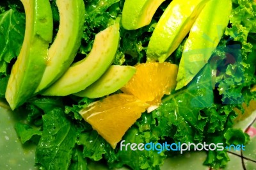
[[[170,95],[177,84],[178,66],[172,63],[143,63],[121,90],[150,105],[159,105],[163,95]]]

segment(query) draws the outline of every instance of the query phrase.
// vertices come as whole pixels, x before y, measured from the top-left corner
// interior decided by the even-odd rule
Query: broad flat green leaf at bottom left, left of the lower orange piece
[[[67,169],[76,142],[76,128],[58,107],[42,119],[44,125],[36,148],[36,165],[43,169]]]

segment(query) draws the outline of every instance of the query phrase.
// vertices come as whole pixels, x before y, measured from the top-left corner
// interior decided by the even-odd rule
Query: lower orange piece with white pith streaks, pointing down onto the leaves
[[[149,105],[132,95],[116,94],[79,111],[113,148]]]

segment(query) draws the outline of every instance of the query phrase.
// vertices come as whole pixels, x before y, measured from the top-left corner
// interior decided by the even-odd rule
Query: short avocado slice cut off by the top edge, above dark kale
[[[122,10],[122,26],[128,30],[147,26],[163,1],[165,0],[126,0]]]

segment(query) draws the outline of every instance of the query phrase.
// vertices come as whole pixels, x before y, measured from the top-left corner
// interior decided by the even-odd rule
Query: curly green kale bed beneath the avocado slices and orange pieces
[[[93,38],[101,30],[120,21],[123,0],[84,0],[86,19],[81,47],[75,61],[92,49]],[[114,65],[136,65],[146,61],[146,50],[154,26],[166,8],[164,2],[150,25],[136,31],[120,28],[120,47]],[[58,8],[51,1],[55,29],[58,29]],[[24,38],[25,15],[19,1],[0,3],[0,98],[10,68],[19,54]],[[55,33],[56,34],[56,33]],[[230,24],[207,65],[188,86],[163,98],[156,111],[143,113],[126,132],[125,143],[224,143],[246,144],[247,134],[232,126],[241,120],[244,105],[255,104],[256,93],[256,3],[234,0]],[[179,64],[184,41],[168,59]],[[128,166],[131,169],[159,169],[172,151],[121,151],[111,146],[86,123],[78,111],[94,100],[68,97],[31,98],[15,112],[26,112],[15,129],[22,143],[33,142],[36,166],[42,169],[87,169],[88,163],[99,161],[109,168]],[[234,109],[236,108],[236,109]],[[253,106],[254,108],[254,106]],[[246,116],[251,112],[246,112]],[[239,118],[237,119],[237,115]],[[224,167],[227,151],[207,151],[204,164]]]

